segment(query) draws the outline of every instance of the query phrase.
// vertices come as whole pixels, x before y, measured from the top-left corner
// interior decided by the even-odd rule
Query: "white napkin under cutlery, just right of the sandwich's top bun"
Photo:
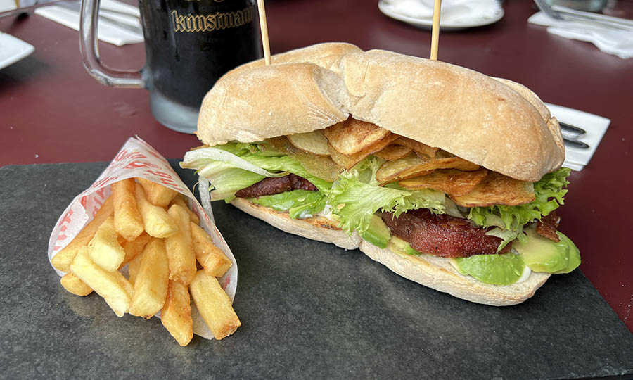
[[[571,170],[580,172],[580,170],[589,163],[592,156],[594,156],[596,148],[598,148],[598,144],[600,144],[611,120],[581,110],[556,106],[555,104],[545,103],[545,105],[549,108],[551,115],[556,116],[558,121],[587,131],[586,134],[575,138],[575,140],[582,141],[589,145],[588,149],[574,148],[573,146],[565,145],[565,163],[563,163],[563,167],[569,167]]]

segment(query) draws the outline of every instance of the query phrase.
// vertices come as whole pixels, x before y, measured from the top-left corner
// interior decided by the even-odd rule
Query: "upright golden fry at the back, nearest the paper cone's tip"
[[[135,186],[136,182],[133,178],[112,184],[115,228],[127,240],[134,240],[143,232],[143,219],[136,208]]]

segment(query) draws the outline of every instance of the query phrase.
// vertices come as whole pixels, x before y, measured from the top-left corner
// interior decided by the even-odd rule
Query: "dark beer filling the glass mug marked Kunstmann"
[[[262,56],[255,0],[140,0],[146,86],[199,108],[225,72]]]

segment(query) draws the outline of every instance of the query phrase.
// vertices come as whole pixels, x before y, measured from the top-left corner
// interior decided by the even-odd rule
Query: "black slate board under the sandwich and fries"
[[[633,378],[632,334],[578,270],[521,305],[477,305],[222,202],[242,327],[181,348],[158,319],[67,293],[46,259],[53,224],[105,166],[0,168],[0,378]]]

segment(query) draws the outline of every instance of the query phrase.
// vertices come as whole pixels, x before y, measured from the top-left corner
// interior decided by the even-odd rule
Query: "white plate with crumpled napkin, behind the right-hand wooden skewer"
[[[433,0],[383,0],[390,10],[401,15],[433,19]],[[492,19],[499,15],[498,0],[444,0],[440,23],[464,23],[468,20]]]

